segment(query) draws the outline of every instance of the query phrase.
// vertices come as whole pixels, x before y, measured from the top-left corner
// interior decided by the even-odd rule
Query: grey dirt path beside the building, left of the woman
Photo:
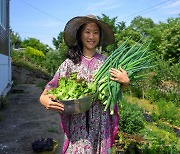
[[[7,109],[0,110],[0,154],[34,154],[31,143],[41,138],[58,141],[60,154],[63,134],[59,114],[39,103],[42,89],[35,84],[18,84],[8,96]]]

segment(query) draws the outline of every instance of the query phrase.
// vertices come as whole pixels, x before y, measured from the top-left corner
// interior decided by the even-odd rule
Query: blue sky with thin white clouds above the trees
[[[52,40],[63,32],[75,16],[105,14],[124,21],[136,16],[151,18],[156,24],[180,14],[180,0],[10,0],[10,27],[22,40],[36,38],[55,48]]]

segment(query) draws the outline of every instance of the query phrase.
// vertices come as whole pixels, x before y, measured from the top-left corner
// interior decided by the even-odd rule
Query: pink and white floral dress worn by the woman
[[[96,53],[91,60],[83,56],[79,64],[66,59],[58,68],[53,79],[46,85],[46,89],[55,88],[58,79],[68,76],[71,72],[78,72],[78,76],[92,81],[92,75],[101,67],[106,57]],[[115,135],[118,131],[118,110],[110,115],[104,112],[104,106],[96,101],[89,111],[79,114],[60,114],[61,126],[65,139],[62,153],[65,154],[108,154]]]

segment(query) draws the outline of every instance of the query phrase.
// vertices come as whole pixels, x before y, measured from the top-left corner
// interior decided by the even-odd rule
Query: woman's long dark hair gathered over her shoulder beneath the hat
[[[73,61],[74,64],[78,64],[81,62],[81,55],[83,53],[83,44],[81,40],[81,31],[84,28],[85,24],[81,25],[77,30],[76,40],[77,45],[69,47],[66,57]],[[99,26],[98,26],[99,27]],[[101,38],[101,29],[100,30],[100,38]],[[100,42],[100,41],[99,41]]]

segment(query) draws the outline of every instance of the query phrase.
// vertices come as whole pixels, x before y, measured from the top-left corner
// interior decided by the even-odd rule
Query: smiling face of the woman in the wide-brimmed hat
[[[81,31],[83,49],[95,50],[100,40],[100,29],[96,23],[87,23]]]

